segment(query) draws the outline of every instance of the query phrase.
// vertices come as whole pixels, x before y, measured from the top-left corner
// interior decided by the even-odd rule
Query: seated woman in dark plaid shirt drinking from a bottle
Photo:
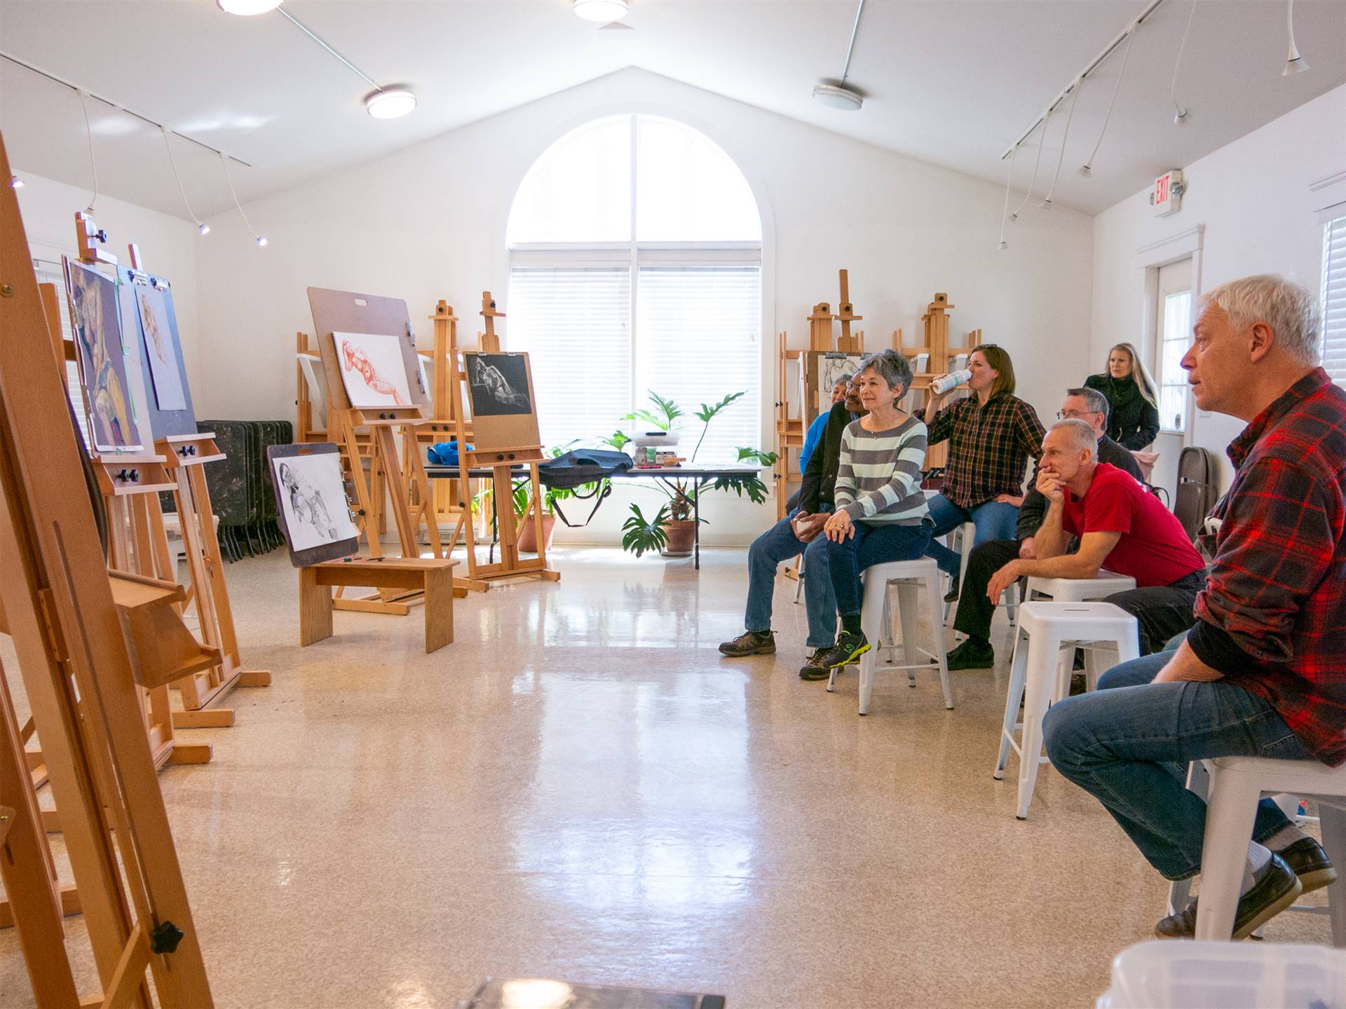
[[[930,444],[949,441],[944,490],[930,498],[933,535],[973,522],[979,544],[1014,539],[1028,459],[1042,456],[1042,421],[1032,406],[1014,394],[1014,362],[1004,348],[993,343],[979,347],[968,358],[968,370],[973,396],[938,413],[949,393],[931,394],[926,401]],[[949,599],[957,599],[958,554],[934,541],[926,553],[953,580]]]

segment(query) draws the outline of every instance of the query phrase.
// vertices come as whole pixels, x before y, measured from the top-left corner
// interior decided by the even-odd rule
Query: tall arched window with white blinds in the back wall
[[[760,448],[762,221],[715,143],[656,116],[588,122],[529,170],[506,237],[509,347],[532,357],[544,441],[643,431],[622,417],[650,390],[688,414],[742,391],[697,460]]]

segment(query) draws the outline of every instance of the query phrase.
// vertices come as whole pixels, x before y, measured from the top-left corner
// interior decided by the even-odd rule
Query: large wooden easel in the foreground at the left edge
[[[0,171],[9,171],[3,139]],[[0,780],[5,796],[20,799],[7,800],[15,818],[5,821],[0,873],[35,1001],[43,1009],[148,1009],[152,985],[164,1009],[210,1009],[139,694],[157,682],[140,655],[153,636],[135,628],[153,622],[147,607],[160,618],[176,615],[148,599],[129,609],[116,603],[70,425],[63,362],[46,327],[12,191],[0,192],[0,331],[11,336],[0,357],[0,609],[43,743],[101,987],[97,998],[81,1000],[62,903],[42,853],[43,825],[22,790],[13,720],[0,713]]]

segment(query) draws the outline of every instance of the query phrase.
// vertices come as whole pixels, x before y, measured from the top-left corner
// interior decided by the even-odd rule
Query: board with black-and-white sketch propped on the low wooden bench
[[[357,553],[359,529],[346,500],[336,444],[269,445],[267,460],[291,564],[306,568]]]

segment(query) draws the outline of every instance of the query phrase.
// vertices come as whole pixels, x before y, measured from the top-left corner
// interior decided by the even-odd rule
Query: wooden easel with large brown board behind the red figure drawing
[[[318,350],[323,361],[323,374],[327,379],[327,433],[346,456],[350,482],[355,488],[355,525],[361,530],[365,548],[370,557],[382,557],[378,515],[384,500],[374,500],[374,492],[384,496],[397,526],[397,539],[402,557],[420,557],[416,542],[420,526],[424,523],[429,534],[429,550],[433,557],[443,558],[444,548],[439,535],[439,522],[435,518],[433,498],[429,480],[425,476],[425,460],[419,451],[405,452],[398,457],[398,440],[415,443],[416,428],[427,420],[428,391],[420,389],[416,404],[409,406],[384,406],[380,409],[359,409],[351,406],[346,383],[342,381],[334,332],[367,332],[397,336],[404,340],[404,366],[408,377],[420,387],[420,370],[416,362],[415,340],[406,303],[374,295],[357,295],[346,291],[308,288],[308,301],[314,312],[314,330],[318,334]],[[362,459],[361,432],[367,432],[367,453],[370,457],[366,479]],[[411,607],[424,601],[424,592],[415,589],[382,588],[363,596],[345,595],[345,587],[338,591],[332,605],[336,609],[366,613],[389,613],[406,616]]]

